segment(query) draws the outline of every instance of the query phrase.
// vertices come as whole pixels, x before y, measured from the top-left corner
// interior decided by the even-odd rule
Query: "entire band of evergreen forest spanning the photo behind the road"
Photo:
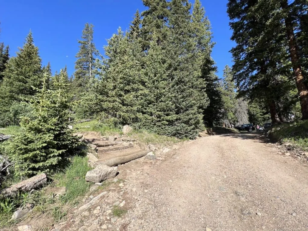
[[[0,43],[0,127],[22,129],[6,145],[18,173],[58,166],[78,146],[68,125],[83,119],[180,139],[206,127],[308,119],[306,1],[229,0],[236,46],[223,78],[199,0],[143,4],[104,51],[85,24],[72,76],[64,64],[54,75],[52,63],[42,67],[31,31],[16,56]]]

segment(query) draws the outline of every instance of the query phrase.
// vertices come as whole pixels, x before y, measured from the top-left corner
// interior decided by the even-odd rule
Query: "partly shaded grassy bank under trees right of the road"
[[[269,136],[274,142],[294,143],[298,148],[308,151],[308,120],[276,125]]]

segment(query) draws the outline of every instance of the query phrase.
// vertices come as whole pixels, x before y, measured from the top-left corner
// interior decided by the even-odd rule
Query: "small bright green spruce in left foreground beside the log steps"
[[[32,176],[39,172],[50,172],[66,164],[67,157],[75,154],[78,137],[68,128],[69,97],[65,76],[57,75],[52,83],[55,90],[46,88],[49,76],[44,74],[43,87],[30,99],[33,117],[23,117],[21,134],[15,136],[8,146],[15,172],[21,176]]]

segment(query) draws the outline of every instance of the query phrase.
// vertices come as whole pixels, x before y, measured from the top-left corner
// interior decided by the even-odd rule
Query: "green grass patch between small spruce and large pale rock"
[[[63,203],[78,202],[78,197],[84,195],[91,183],[85,180],[87,171],[91,170],[87,163],[87,157],[75,156],[72,164],[64,173],[55,174],[53,177],[58,187],[65,187],[66,193],[61,197]]]

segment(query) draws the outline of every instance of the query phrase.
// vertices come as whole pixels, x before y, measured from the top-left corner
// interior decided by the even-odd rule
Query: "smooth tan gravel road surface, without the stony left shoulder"
[[[188,142],[141,172],[122,230],[308,230],[308,168],[257,135]]]

